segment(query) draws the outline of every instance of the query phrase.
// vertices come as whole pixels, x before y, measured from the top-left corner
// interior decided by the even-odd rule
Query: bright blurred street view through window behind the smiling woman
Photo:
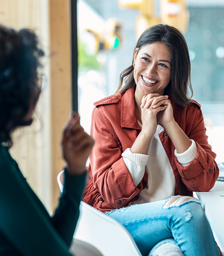
[[[85,49],[82,56],[86,58],[80,62],[79,109],[86,130],[90,130],[93,102],[114,94],[121,71],[132,63],[134,46],[142,30],[168,22],[184,31],[191,61],[193,99],[202,105],[217,161],[224,161],[224,136],[219,136],[224,134],[224,1],[79,0],[78,3],[79,37]],[[110,33],[106,32],[110,27],[106,26],[108,20],[113,20]],[[84,36],[85,33],[89,35]],[[89,61],[91,65],[87,65]]]

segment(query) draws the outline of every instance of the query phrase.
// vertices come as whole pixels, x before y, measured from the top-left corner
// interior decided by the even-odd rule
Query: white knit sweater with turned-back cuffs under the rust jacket
[[[142,126],[141,123],[139,125],[140,127]],[[162,126],[157,126],[147,155],[134,154],[130,148],[126,149],[121,155],[136,187],[142,180],[145,169],[148,173],[146,188],[141,191],[138,200],[131,204],[154,202],[167,199],[175,194],[175,177],[159,138],[159,133],[163,130]],[[188,166],[197,154],[196,144],[193,139],[191,139],[191,142],[190,148],[184,153],[178,154],[177,150],[174,152],[183,167]]]

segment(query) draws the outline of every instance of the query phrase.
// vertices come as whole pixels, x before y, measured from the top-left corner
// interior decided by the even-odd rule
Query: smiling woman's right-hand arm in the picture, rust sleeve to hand
[[[180,114],[180,127],[173,117],[172,105],[168,99],[156,103],[153,108],[158,108],[161,104],[167,107],[158,113],[157,122],[167,132],[177,153],[184,153],[190,148],[190,139],[196,143],[197,154],[189,165],[182,166],[175,157],[184,184],[190,191],[209,191],[217,180],[219,170],[215,162],[216,154],[208,144],[202,110],[192,104],[185,107]]]

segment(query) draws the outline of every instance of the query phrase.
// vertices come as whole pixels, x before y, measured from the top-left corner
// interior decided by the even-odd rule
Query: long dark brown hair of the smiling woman
[[[171,80],[164,90],[164,94],[169,94],[172,100],[185,106],[193,95],[190,81],[190,58],[188,47],[183,34],[176,28],[159,24],[145,30],[138,39],[135,49],[138,51],[147,44],[162,42],[168,47],[171,53]],[[137,51],[137,54],[138,54]],[[134,80],[134,54],[132,65],[123,70],[120,74],[120,82],[117,92],[135,87]],[[188,97],[188,86],[191,96]]]

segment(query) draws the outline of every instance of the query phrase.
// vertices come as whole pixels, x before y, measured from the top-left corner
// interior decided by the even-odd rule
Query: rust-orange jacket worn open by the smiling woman
[[[166,131],[159,134],[175,176],[175,195],[192,196],[193,191],[209,191],[218,178],[219,170],[214,160],[216,154],[208,144],[201,106],[193,100],[185,108],[172,100],[171,104],[176,122],[197,146],[195,159],[183,167],[174,154],[175,147]],[[147,173],[145,171],[136,187],[121,157],[123,151],[132,147],[141,131],[135,113],[134,88],[94,105],[91,136],[95,139],[95,145],[90,155],[90,181],[83,201],[106,212],[137,200],[146,186]]]

